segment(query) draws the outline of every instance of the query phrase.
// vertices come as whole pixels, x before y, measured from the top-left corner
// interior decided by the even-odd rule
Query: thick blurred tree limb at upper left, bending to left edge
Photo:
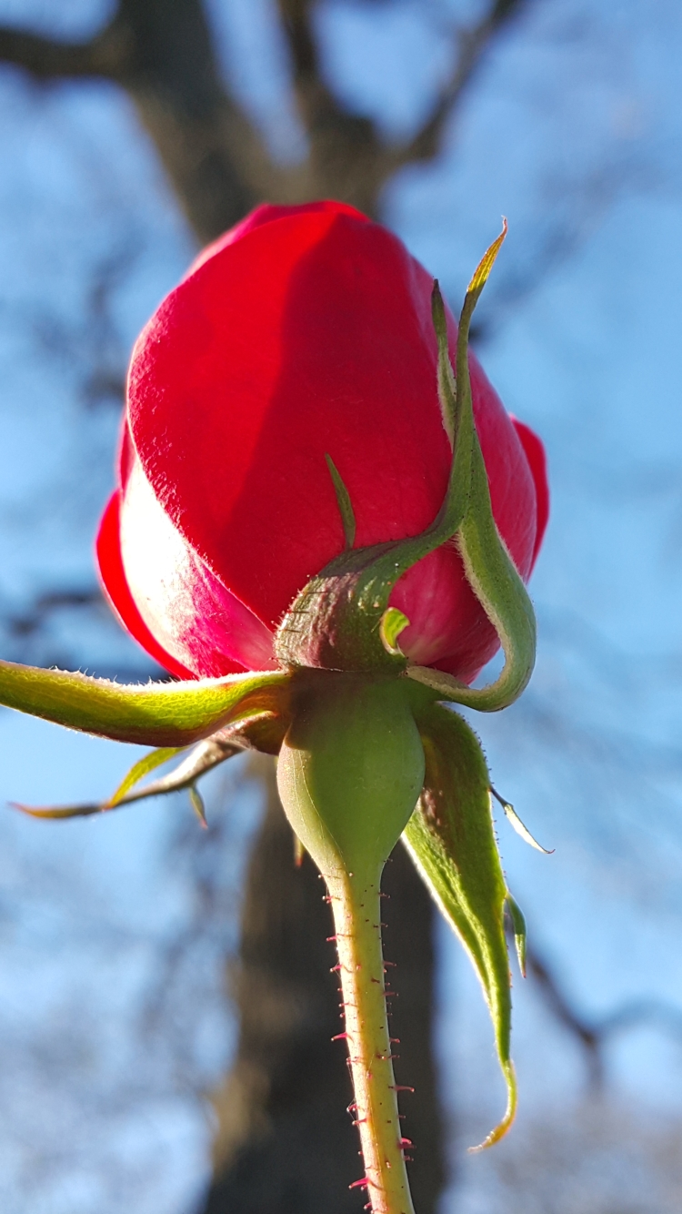
[[[0,29],[0,59],[39,80],[101,76],[130,95],[201,243],[237,223],[279,171],[221,80],[201,0],[119,0],[90,42]]]

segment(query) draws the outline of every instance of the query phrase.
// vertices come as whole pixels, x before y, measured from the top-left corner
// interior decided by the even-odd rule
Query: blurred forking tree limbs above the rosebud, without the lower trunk
[[[152,136],[176,197],[200,242],[214,239],[262,199],[282,203],[339,198],[376,215],[396,169],[432,159],[457,106],[498,33],[528,0],[493,0],[457,39],[453,74],[421,131],[402,147],[375,123],[349,114],[324,80],[312,15],[317,0],[278,0],[292,86],[309,152],[280,166],[226,89],[201,0],[119,0],[109,25],[89,42],[59,42],[0,29],[0,61],[39,80],[101,76],[130,95]]]

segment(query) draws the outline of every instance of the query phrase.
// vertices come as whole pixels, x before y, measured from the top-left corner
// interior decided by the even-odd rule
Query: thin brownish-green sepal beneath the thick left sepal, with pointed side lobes
[[[239,737],[239,734],[234,734]],[[164,748],[165,749],[165,748]],[[225,762],[226,759],[232,759],[233,755],[241,754],[244,747],[239,745],[235,741],[228,741],[220,734],[215,738],[208,738],[205,742],[199,742],[198,745],[187,755],[183,762],[178,764],[174,771],[169,772],[167,776],[161,776],[159,779],[154,779],[150,784],[146,784],[144,788],[140,788],[136,792],[127,792],[120,796],[120,790],[123,784],[119,787],[118,792],[114,794],[115,800],[112,798],[108,801],[92,801],[85,805],[63,805],[63,806],[30,806],[13,804],[13,809],[21,810],[22,813],[27,813],[32,818],[81,818],[89,817],[92,813],[106,813],[109,810],[119,810],[124,805],[132,805],[133,801],[144,801],[149,796],[163,796],[169,793],[177,793],[183,788],[192,788],[194,782],[199,779],[200,776],[205,776],[208,771],[212,767],[217,767],[218,764]],[[153,755],[158,755],[159,751],[153,751]],[[129,776],[126,776],[124,784],[129,781],[136,767],[144,762],[148,762],[150,755],[144,755],[144,759],[140,760],[131,768]],[[167,758],[167,750],[166,750]],[[158,762],[164,762],[159,759]],[[150,766],[148,770],[152,770]],[[141,777],[138,777],[141,778]],[[132,781],[129,788],[132,788]]]

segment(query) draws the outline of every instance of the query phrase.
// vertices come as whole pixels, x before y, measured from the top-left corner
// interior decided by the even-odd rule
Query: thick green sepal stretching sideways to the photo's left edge
[[[286,711],[289,675],[119,685],[80,673],[0,662],[0,704],[116,742],[187,747],[263,713]]]

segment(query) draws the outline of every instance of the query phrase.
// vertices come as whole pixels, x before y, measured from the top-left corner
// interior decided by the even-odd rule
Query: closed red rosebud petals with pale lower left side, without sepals
[[[432,285],[351,206],[260,206],[154,313],[132,354],[120,488],[97,555],[123,624],[169,670],[275,665],[273,630],[343,549],[325,454],[349,492],[357,546],[432,522],[451,458]],[[528,579],[547,518],[542,446],[473,356],[471,379],[493,512]],[[451,543],[391,603],[421,665],[470,681],[498,648]]]

